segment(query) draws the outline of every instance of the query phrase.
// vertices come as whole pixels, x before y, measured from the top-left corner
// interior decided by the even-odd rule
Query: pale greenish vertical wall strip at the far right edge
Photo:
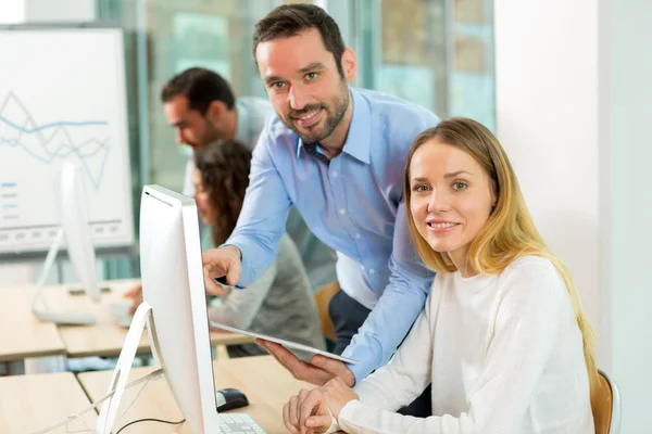
[[[652,386],[652,2],[601,2],[601,158],[606,159],[612,367],[624,400],[623,433],[650,432]],[[606,297],[604,297],[606,298]]]

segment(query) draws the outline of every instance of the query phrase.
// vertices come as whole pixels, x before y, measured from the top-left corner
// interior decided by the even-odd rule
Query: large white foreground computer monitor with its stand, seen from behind
[[[147,315],[154,359],[191,431],[220,432],[195,200],[158,186],[143,188],[140,273],[143,303],[109,387],[115,390],[113,403],[102,407],[98,426],[108,433],[113,425]]]

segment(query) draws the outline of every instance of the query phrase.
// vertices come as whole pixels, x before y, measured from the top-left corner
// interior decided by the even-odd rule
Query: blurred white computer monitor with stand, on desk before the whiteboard
[[[65,243],[70,260],[86,294],[93,302],[100,301],[100,283],[96,269],[96,254],[89,227],[88,204],[84,183],[86,180],[76,164],[64,161],[61,164],[59,206],[61,228],[48,252],[41,276],[33,295],[33,311],[36,317],[59,324],[93,324],[92,314],[80,311],[53,311],[45,299],[40,299],[46,280],[50,276],[59,250]],[[39,308],[38,302],[43,308]]]

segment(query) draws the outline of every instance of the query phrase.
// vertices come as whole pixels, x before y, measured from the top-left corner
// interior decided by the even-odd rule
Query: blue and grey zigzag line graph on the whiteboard
[[[23,125],[20,125],[15,120],[8,119],[5,113],[9,112],[10,108],[11,113],[14,114],[14,117],[16,117],[15,113],[18,113],[17,117],[22,119]],[[102,182],[109,157],[110,146],[106,145],[109,139],[106,138],[103,141],[100,141],[97,138],[92,138],[77,144],[74,142],[71,131],[73,128],[104,127],[108,125],[109,123],[105,120],[61,120],[38,125],[21,100],[14,93],[9,92],[4,101],[0,104],[0,146],[8,145],[10,148],[21,149],[33,158],[47,165],[52,164],[57,158],[65,158],[74,154],[82,163],[92,186],[98,190]],[[3,135],[3,131],[8,130],[8,128],[10,133]],[[49,137],[43,135],[43,131],[46,130],[51,130]],[[10,136],[11,138],[8,138],[7,136]],[[26,144],[27,142],[35,140],[38,142],[36,146]],[[57,149],[50,151],[50,144],[58,144]],[[87,149],[92,144],[96,144],[97,148],[93,148],[91,152],[84,153],[84,149]],[[100,152],[102,152],[102,154],[100,156],[99,170],[97,176],[93,176],[87,159]],[[5,184],[9,183],[3,183],[2,187],[8,187]],[[15,184],[13,187],[15,187]]]

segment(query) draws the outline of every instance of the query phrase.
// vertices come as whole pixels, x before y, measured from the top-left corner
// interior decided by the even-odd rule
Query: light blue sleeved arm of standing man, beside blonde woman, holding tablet
[[[391,276],[383,296],[342,354],[358,360],[348,366],[360,381],[387,365],[424,309],[435,273],[422,263],[408,229],[405,204],[397,210]]]

